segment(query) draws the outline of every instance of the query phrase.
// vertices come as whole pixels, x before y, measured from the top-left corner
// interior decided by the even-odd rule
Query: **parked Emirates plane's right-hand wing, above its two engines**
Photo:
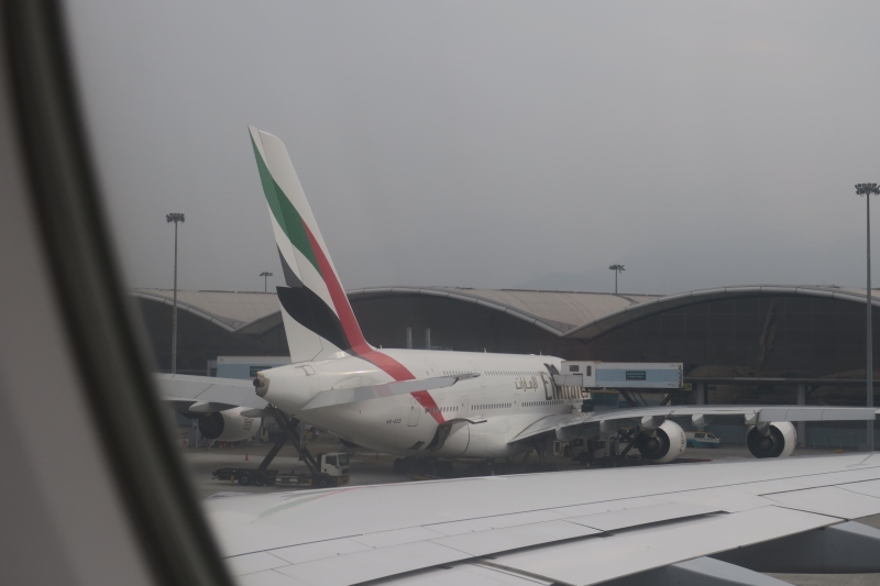
[[[559,429],[601,423],[602,421],[629,420],[647,423],[653,418],[682,419],[691,418],[695,424],[705,424],[715,418],[735,418],[743,424],[755,425],[771,421],[869,421],[880,410],[873,407],[817,407],[817,406],[740,406],[740,405],[689,405],[642,407],[634,409],[615,409],[598,413],[565,413],[548,416],[539,419],[516,435],[510,442],[517,442],[548,433]],[[700,419],[703,419],[700,422]]]

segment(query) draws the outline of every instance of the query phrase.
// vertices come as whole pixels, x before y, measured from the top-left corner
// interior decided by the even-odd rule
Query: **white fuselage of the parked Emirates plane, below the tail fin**
[[[399,455],[508,457],[530,450],[510,440],[551,414],[580,411],[580,394],[561,396],[547,365],[553,356],[381,350],[417,378],[476,373],[446,388],[317,409],[319,392],[389,383],[395,378],[360,357],[297,363],[263,371],[265,397],[288,414],[358,445]],[[426,392],[428,394],[426,396]],[[470,420],[470,421],[469,421]],[[479,421],[479,422],[477,422]],[[438,429],[443,425],[441,433]],[[447,433],[448,431],[448,433]]]

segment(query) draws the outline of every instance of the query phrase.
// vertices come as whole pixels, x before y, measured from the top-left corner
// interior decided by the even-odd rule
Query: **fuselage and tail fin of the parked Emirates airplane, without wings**
[[[256,392],[288,414],[370,449],[404,455],[507,457],[551,414],[580,411],[552,373],[560,358],[377,350],[363,336],[284,144],[251,128],[286,287],[278,299],[290,366]]]

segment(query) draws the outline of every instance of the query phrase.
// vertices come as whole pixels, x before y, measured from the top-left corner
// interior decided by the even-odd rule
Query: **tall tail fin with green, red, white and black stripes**
[[[251,143],[286,287],[278,287],[293,362],[371,351],[284,143],[253,126]]]

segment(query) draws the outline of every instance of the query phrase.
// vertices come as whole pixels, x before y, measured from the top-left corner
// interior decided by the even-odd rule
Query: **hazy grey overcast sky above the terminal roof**
[[[282,283],[248,124],[287,144],[349,289],[609,291],[613,263],[622,292],[865,283],[878,2],[77,0],[69,19],[134,287],[172,286],[167,212],[180,288]]]

